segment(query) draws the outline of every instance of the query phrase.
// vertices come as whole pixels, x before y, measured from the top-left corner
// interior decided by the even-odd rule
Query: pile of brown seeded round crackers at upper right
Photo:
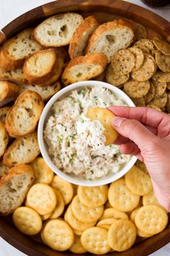
[[[136,106],[170,113],[170,45],[142,38],[117,51],[107,67],[107,82],[125,91]]]

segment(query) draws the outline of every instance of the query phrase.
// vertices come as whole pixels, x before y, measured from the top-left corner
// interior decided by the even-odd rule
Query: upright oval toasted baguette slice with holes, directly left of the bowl
[[[38,93],[26,90],[19,95],[10,108],[5,125],[11,137],[21,137],[34,132],[40,119],[44,103]]]

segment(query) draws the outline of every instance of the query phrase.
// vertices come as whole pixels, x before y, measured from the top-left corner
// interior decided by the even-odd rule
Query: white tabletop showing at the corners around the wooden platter
[[[19,15],[27,12],[28,10],[37,7],[41,4],[48,3],[48,0],[0,0],[0,29],[4,27],[6,24],[14,20],[14,18]],[[134,4],[138,4],[141,7],[145,7],[146,9],[150,9],[153,12],[164,17],[166,20],[170,21],[170,7],[166,7],[163,9],[151,9],[146,7],[139,0],[131,0]],[[170,255],[170,243],[165,247],[162,247],[157,252],[154,252],[151,256],[169,256]],[[24,256],[22,252],[12,247],[10,244],[4,241],[4,239],[0,238],[0,256]],[[33,256],[33,255],[29,255]]]

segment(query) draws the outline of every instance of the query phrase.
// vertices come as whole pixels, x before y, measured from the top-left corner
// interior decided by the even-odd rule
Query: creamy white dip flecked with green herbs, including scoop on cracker
[[[56,101],[46,121],[44,138],[53,163],[61,171],[98,179],[110,172],[117,173],[130,161],[119,146],[105,146],[104,127],[99,121],[86,117],[89,107],[127,106],[106,88],[73,90]]]

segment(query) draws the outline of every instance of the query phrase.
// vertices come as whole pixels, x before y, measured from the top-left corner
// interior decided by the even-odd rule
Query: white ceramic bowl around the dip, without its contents
[[[46,145],[46,142],[43,138],[43,129],[45,125],[45,121],[48,119],[48,116],[50,114],[50,108],[57,101],[59,98],[63,98],[65,95],[69,95],[72,90],[80,90],[82,88],[86,87],[94,87],[97,86],[98,88],[107,88],[111,90],[117,98],[120,98],[122,101],[124,101],[128,106],[135,106],[133,101],[126,95],[125,93],[122,92],[119,88],[109,85],[106,82],[99,82],[99,81],[83,81],[83,82],[76,82],[72,85],[68,85],[66,88],[63,88],[60,90],[58,93],[53,95],[52,98],[50,98],[50,101],[46,104],[44,110],[42,111],[40,121],[38,124],[38,142],[40,146],[40,151],[42,154],[42,157],[45,159],[45,162],[50,166],[50,168],[55,172],[55,174],[58,174],[58,176],[61,176],[61,178],[66,179],[68,182],[71,182],[73,184],[81,185],[81,186],[101,186],[104,184],[109,184],[110,182],[114,182],[117,179],[120,179],[121,176],[126,174],[130,168],[134,165],[135,161],[137,158],[135,156],[132,156],[130,158],[130,161],[123,166],[123,168],[117,173],[111,173],[108,174],[107,176],[104,176],[100,179],[90,181],[86,180],[83,178],[76,177],[74,174],[65,174],[63,171],[60,171],[53,163],[53,161],[50,158],[50,155],[48,154],[48,146]]]

